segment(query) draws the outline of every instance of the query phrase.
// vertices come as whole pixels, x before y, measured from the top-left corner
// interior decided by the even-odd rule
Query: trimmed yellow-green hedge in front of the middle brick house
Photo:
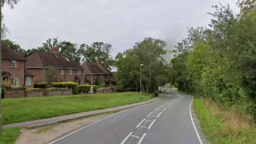
[[[51,86],[72,89],[73,94],[78,94],[77,83],[75,82],[54,82],[51,83]]]

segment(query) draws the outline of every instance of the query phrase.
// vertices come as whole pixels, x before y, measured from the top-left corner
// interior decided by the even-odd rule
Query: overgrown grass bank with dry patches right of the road
[[[211,143],[256,143],[256,126],[250,115],[236,108],[220,108],[202,98],[194,99],[194,110],[202,132]]]

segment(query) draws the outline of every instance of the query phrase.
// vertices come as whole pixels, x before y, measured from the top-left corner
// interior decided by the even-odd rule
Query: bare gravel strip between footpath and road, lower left
[[[61,135],[79,129],[85,125],[89,125],[102,118],[113,114],[105,114],[95,117],[79,119],[61,124],[38,127],[36,129],[21,129],[21,134],[15,144],[43,144],[54,140]]]

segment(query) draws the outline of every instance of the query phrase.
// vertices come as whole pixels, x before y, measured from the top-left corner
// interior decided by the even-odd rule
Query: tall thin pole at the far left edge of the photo
[[[1,17],[0,17],[0,77],[2,79],[2,1],[0,1],[0,12],[1,12]],[[1,104],[1,99],[2,99],[2,80],[0,81],[0,134],[3,131],[3,121],[2,121],[2,104]]]

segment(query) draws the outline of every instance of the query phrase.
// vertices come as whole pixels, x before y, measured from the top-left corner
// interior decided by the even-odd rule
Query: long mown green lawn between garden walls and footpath
[[[3,99],[3,124],[26,122],[67,114],[105,109],[149,100],[138,92]]]

